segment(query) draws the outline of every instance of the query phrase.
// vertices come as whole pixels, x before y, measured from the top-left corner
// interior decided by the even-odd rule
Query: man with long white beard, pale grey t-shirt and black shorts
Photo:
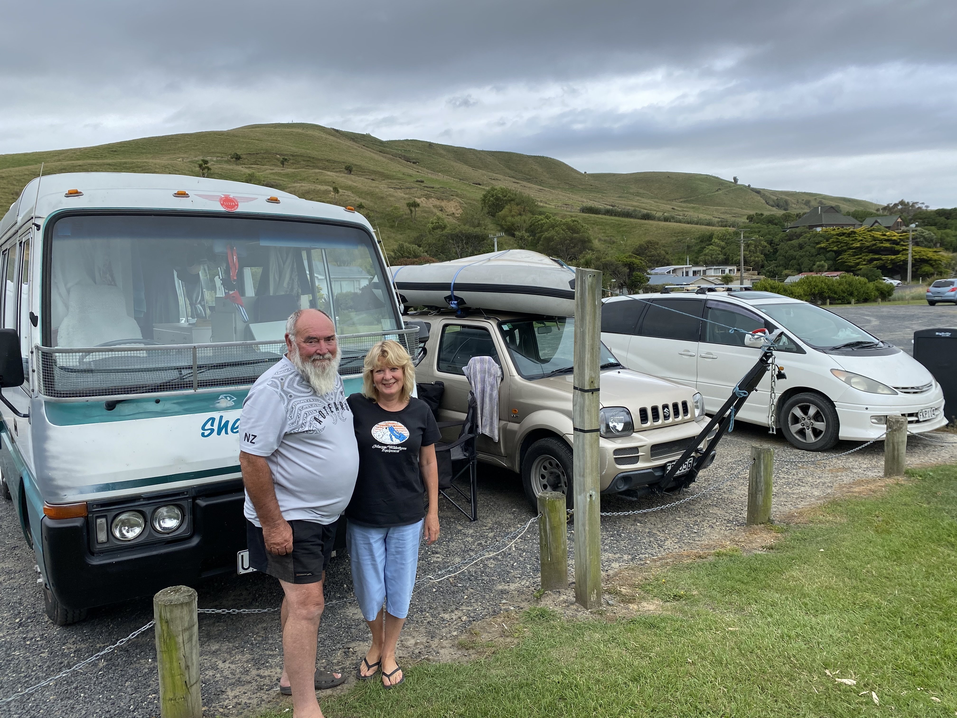
[[[278,578],[284,593],[279,689],[291,692],[296,718],[322,718],[316,688],[345,681],[316,669],[323,579],[359,452],[332,320],[318,309],[294,312],[286,348],[243,402],[246,538],[250,565]]]

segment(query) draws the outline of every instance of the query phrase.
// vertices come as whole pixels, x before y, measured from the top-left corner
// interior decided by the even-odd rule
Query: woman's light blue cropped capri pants
[[[346,526],[352,585],[366,620],[375,620],[383,603],[392,616],[409,616],[424,524],[420,520],[408,526],[377,528],[350,521]]]

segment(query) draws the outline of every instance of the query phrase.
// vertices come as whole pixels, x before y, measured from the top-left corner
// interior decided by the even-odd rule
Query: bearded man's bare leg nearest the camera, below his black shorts
[[[294,718],[323,718],[316,700],[316,643],[323,616],[323,582],[279,581],[282,601],[282,664],[293,689]]]

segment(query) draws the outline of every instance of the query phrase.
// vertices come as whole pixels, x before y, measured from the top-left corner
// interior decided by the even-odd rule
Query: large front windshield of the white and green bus
[[[281,342],[319,308],[339,334],[394,329],[358,228],[235,216],[81,215],[53,227],[47,347]]]

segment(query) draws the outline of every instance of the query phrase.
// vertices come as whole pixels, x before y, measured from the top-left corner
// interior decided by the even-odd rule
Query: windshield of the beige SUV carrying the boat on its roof
[[[568,373],[574,370],[574,317],[541,317],[499,324],[501,336],[512,355],[515,369],[526,379]],[[618,367],[618,360],[603,344],[599,349],[603,369]]]

